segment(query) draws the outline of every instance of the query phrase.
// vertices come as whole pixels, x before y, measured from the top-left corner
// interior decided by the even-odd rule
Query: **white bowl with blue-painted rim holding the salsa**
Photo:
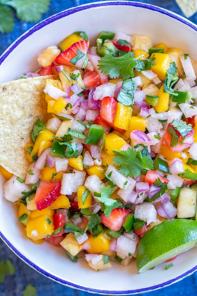
[[[92,43],[102,30],[140,33],[151,36],[153,44],[165,42],[169,47],[180,47],[193,59],[197,56],[197,26],[183,17],[139,2],[95,2],[49,17],[17,39],[0,58],[0,83],[37,70],[38,53],[80,30],[87,32]],[[127,295],[165,287],[197,270],[196,248],[179,255],[168,270],[162,263],[142,274],[137,274],[135,260],[127,267],[113,263],[113,268],[99,273],[82,259],[73,263],[63,248],[48,243],[37,245],[27,239],[17,222],[16,206],[3,197],[3,183],[1,177],[1,238],[28,265],[61,284],[92,293]]]

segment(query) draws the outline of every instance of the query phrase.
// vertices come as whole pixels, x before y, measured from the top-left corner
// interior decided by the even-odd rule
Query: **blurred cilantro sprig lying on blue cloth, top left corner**
[[[50,0],[1,0],[0,1],[0,32],[8,33],[14,28],[13,10],[19,20],[38,22],[43,13],[48,10]]]

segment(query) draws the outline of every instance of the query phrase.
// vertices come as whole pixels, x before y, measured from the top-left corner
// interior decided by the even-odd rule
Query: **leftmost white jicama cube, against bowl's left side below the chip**
[[[30,185],[20,183],[15,175],[4,184],[4,197],[11,202],[16,202],[21,198],[23,191],[30,191]]]

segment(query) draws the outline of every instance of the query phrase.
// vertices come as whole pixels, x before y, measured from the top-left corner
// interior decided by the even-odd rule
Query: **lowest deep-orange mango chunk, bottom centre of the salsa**
[[[91,249],[87,250],[90,254],[97,254],[109,250],[110,241],[104,236],[104,231],[97,237],[93,237],[91,234],[86,242],[90,243]]]

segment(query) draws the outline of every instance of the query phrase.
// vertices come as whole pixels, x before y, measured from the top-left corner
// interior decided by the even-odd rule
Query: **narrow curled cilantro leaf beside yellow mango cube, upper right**
[[[178,76],[176,75],[176,73],[177,67],[175,62],[170,63],[170,68],[167,70],[167,73],[165,74],[163,92],[173,94],[174,96],[178,96],[178,94],[174,92],[174,89],[172,89],[172,86],[178,81]]]

